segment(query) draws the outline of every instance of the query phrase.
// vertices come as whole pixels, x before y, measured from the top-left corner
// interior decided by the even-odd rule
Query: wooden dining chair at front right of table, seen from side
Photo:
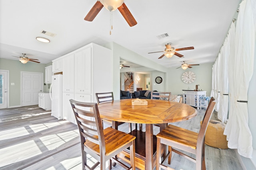
[[[212,115],[215,102],[214,98],[211,99],[208,108],[206,109],[206,113],[204,115],[204,119],[202,121],[202,126],[199,130],[199,133],[194,131],[190,131],[181,127],[177,127],[174,125],[168,125],[164,130],[156,135],[157,137],[157,145],[156,145],[156,170],[163,168],[165,170],[170,169],[168,166],[165,166],[163,162],[168,158],[168,164],[171,163],[172,152],[180,154],[181,156],[187,158],[196,163],[196,170],[205,170],[205,159],[204,159],[204,139],[205,133],[210,121],[210,117]],[[168,145],[168,154],[164,156],[164,159],[161,162],[161,147],[163,145]],[[175,149],[174,149],[175,148]],[[182,151],[190,152],[196,155],[196,158],[192,158]],[[161,162],[161,163],[160,163]]]

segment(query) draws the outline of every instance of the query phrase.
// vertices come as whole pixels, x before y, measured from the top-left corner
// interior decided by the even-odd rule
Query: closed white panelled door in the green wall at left
[[[38,93],[43,89],[43,73],[21,72],[22,106],[38,105]]]

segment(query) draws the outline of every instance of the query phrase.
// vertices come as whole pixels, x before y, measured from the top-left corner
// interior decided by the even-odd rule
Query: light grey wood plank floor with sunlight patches
[[[205,109],[193,119],[174,125],[199,131]],[[38,106],[0,109],[0,170],[81,170],[80,137],[77,126],[57,120]],[[216,119],[216,113],[212,119]],[[144,126],[145,128],[145,126]],[[119,126],[128,131],[128,125]],[[154,134],[159,132],[154,127]],[[242,170],[232,149],[216,149],[206,145],[207,170]],[[193,170],[195,164],[173,153],[170,167]],[[88,162],[95,160],[88,155]],[[115,166],[113,170],[121,170]]]

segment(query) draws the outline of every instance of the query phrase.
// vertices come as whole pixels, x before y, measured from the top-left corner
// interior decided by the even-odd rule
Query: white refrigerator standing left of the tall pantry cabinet
[[[52,116],[63,118],[62,114],[62,74],[52,76],[52,84],[50,87],[50,98],[52,100]]]

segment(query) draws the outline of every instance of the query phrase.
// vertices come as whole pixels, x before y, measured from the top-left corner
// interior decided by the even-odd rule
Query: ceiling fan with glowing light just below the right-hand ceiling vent
[[[180,49],[174,49],[174,47],[172,47],[171,45],[172,45],[172,43],[167,43],[165,45],[166,48],[164,49],[164,51],[157,51],[157,52],[151,52],[151,53],[165,52],[163,55],[161,55],[161,57],[158,58],[158,59],[162,59],[164,56],[166,56],[167,58],[171,58],[173,55],[176,55],[178,57],[183,57],[184,55],[181,55],[180,53],[177,53],[176,51],[194,49],[194,47],[185,47],[185,48],[180,48]],[[148,53],[148,54],[150,54],[150,53]]]

